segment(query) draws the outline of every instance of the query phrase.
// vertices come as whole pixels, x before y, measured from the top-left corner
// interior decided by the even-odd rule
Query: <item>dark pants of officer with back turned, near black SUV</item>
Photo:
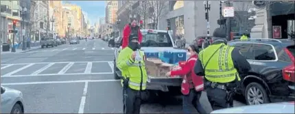
[[[233,98],[231,98],[229,101],[226,100],[226,96],[228,96],[226,90],[220,88],[207,87],[206,91],[212,109],[213,106],[216,107],[215,109],[225,109],[233,107]]]

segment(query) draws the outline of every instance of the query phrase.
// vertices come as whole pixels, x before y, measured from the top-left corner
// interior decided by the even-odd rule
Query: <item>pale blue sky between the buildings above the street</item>
[[[106,1],[69,1],[71,4],[80,5],[83,12],[88,14],[91,25],[99,22],[99,17],[106,14]]]

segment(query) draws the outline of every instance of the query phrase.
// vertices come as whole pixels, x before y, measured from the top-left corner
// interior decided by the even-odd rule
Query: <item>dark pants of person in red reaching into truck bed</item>
[[[196,113],[192,109],[196,109],[199,113],[207,113],[202,104],[200,103],[200,97],[202,91],[196,91],[191,89],[188,95],[182,96],[182,110],[183,113]]]

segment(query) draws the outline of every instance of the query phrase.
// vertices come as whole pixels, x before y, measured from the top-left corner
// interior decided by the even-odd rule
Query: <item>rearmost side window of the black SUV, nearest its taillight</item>
[[[267,44],[252,44],[255,60],[275,60],[274,49]]]

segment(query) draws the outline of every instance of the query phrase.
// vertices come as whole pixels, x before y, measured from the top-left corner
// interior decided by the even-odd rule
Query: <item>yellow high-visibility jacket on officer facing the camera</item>
[[[129,87],[131,89],[145,90],[147,83],[147,72],[145,70],[145,62],[143,60],[144,53],[140,51],[141,61],[133,61],[131,59],[132,49],[129,47],[123,48],[117,58],[117,68],[121,70],[123,78],[129,77]],[[123,82],[123,80],[121,81]],[[142,82],[142,84],[141,84]]]

